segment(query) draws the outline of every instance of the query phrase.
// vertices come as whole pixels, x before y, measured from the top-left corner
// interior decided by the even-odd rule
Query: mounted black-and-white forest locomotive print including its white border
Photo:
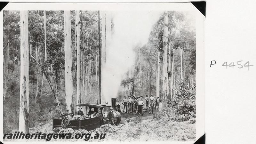
[[[8,5],[4,141],[204,134],[204,15],[192,4]]]

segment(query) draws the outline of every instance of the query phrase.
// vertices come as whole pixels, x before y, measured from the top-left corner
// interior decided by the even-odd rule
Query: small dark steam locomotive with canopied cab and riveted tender
[[[73,113],[64,114],[60,117],[52,118],[52,129],[56,127],[63,128],[72,128],[72,129],[85,129],[87,131],[94,130],[95,128],[99,128],[100,125],[110,124],[108,119],[108,112],[110,111],[110,107],[113,108],[114,113],[114,123],[115,125],[119,125],[121,122],[121,114],[120,106],[116,106],[116,98],[112,98],[112,105],[108,104],[78,104],[77,107],[83,107],[85,109],[85,114],[87,115],[87,111],[91,112],[92,108],[98,112],[97,109],[101,110],[101,117],[86,117],[85,119],[69,119],[68,115],[72,115]],[[63,124],[65,123],[65,124]]]

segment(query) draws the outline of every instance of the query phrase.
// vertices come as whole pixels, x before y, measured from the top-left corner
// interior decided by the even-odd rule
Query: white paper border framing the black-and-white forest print
[[[21,1],[12,1],[12,2],[21,2]],[[73,1],[73,2],[83,2],[83,3],[31,3],[35,1],[22,1],[22,2],[30,2],[30,3],[9,3],[4,9],[0,12],[0,45],[3,45],[3,11],[4,10],[87,10],[87,11],[192,11],[196,13],[196,140],[198,140],[204,134],[204,19],[202,13],[200,13],[196,7],[194,7],[191,3],[180,3],[186,1],[179,1],[179,3],[173,3],[177,1],[161,1],[165,3],[160,3],[156,0],[150,1],[117,1],[117,0],[108,0],[106,1],[100,0],[95,3],[95,1]],[[36,2],[50,2],[50,1],[36,1]],[[60,1],[51,1],[51,2],[60,2]],[[70,2],[70,1],[61,1],[61,2]],[[84,3],[87,2],[87,3]],[[103,2],[103,3],[100,3]],[[112,2],[112,3],[111,3]],[[124,3],[127,2],[127,3]],[[134,3],[131,3],[134,2]],[[152,3],[145,3],[152,2]],[[154,3],[153,3],[154,2]],[[172,3],[170,3],[172,2]],[[3,56],[3,51],[0,51],[0,55]],[[1,68],[0,71],[3,73],[3,59],[1,59]],[[3,75],[0,75],[0,84],[3,89]],[[1,91],[1,95],[3,95],[3,91]],[[3,99],[0,100],[0,105],[3,106]],[[4,142],[4,144],[16,144],[20,141],[3,141],[3,107],[0,107],[0,112],[2,113],[0,119],[0,141]],[[24,141],[23,141],[24,142]],[[45,143],[45,142],[37,142],[35,141],[26,141],[26,143]],[[80,141],[79,141],[80,142]],[[118,141],[119,142],[119,141]],[[193,144],[195,141],[161,141],[161,143],[184,143],[184,144]],[[63,144],[63,141],[54,141],[47,143],[59,143]],[[76,143],[66,141],[65,143]],[[92,142],[97,143],[97,142]],[[101,143],[109,143],[112,144],[111,141],[101,142]],[[128,143],[128,142],[121,142]],[[129,141],[129,143],[137,143],[136,141]],[[140,141],[140,143],[146,143]],[[155,141],[148,141],[147,143],[155,143]]]

